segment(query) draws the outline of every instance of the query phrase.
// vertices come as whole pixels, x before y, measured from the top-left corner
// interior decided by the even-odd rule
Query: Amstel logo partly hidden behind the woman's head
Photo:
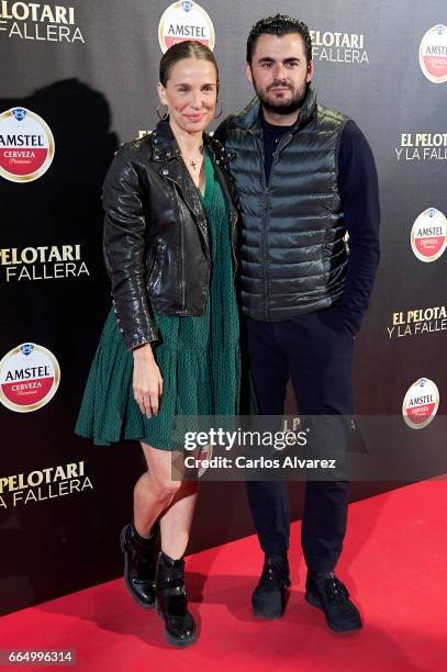
[[[158,25],[158,42],[163,53],[183,40],[197,40],[210,49],[214,48],[213,23],[205,10],[190,0],[170,4]]]

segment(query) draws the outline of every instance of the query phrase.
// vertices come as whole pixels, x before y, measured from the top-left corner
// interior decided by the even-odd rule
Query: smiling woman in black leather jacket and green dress
[[[103,189],[113,310],[76,426],[99,445],[141,441],[147,471],[121,533],[124,579],[141,606],[157,605],[175,646],[197,638],[183,562],[197,482],[171,480],[174,418],[234,415],[238,400],[237,213],[225,152],[204,134],[217,93],[213,53],[174,45],[158,83],[167,117],[113,159]]]

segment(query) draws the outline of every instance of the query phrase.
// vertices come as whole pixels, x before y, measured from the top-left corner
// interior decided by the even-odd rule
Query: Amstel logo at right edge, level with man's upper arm
[[[421,261],[436,261],[447,245],[447,220],[436,208],[424,210],[413,224],[412,249]]]

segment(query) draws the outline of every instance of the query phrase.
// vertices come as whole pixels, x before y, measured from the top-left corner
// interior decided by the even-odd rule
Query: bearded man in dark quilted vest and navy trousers
[[[259,21],[246,72],[257,97],[215,135],[232,156],[241,199],[241,299],[258,405],[281,415],[290,374],[300,415],[346,418],[354,338],[379,260],[375,160],[353,121],[316,103],[304,23],[281,14]],[[357,630],[358,609],[334,573],[349,482],[305,488],[305,598],[333,630]],[[265,552],[253,608],[277,618],[290,586],[287,491],[278,481],[248,482],[247,493]]]

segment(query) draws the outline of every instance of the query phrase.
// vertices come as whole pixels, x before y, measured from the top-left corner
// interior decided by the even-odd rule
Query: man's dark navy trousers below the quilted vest
[[[281,415],[289,374],[300,415],[353,413],[354,337],[339,306],[284,322],[246,320],[253,383],[264,415]],[[328,572],[342,552],[349,481],[308,481],[301,542],[308,568]],[[290,515],[284,483],[247,481],[259,542],[267,553],[289,548]]]

